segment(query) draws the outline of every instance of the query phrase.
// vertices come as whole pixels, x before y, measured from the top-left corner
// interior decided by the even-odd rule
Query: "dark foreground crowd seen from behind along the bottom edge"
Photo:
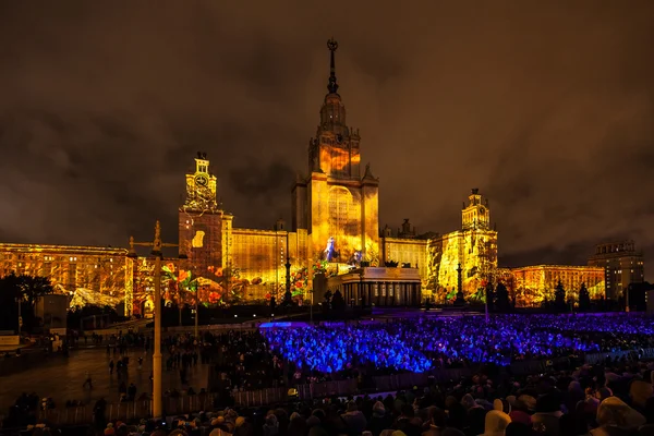
[[[653,368],[618,362],[525,377],[481,372],[392,395],[129,423],[100,415],[89,429],[105,436],[644,436],[654,434]],[[63,433],[39,423],[26,434]]]

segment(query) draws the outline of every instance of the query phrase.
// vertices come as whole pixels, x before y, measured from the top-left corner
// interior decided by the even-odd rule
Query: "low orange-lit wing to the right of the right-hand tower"
[[[567,300],[579,301],[582,283],[589,290],[591,300],[604,296],[604,268],[601,267],[536,265],[511,268],[510,271],[513,281],[509,293],[516,299],[518,307],[535,307],[545,300],[554,301],[554,291],[559,281],[566,290]]]

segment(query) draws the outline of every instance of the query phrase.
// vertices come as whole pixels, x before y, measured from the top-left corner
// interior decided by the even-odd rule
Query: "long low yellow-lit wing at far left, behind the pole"
[[[72,306],[124,300],[124,313],[132,313],[133,262],[124,249],[2,243],[0,272],[48,277]]]

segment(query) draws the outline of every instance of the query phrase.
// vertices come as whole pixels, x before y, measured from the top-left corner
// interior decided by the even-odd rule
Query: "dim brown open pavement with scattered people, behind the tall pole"
[[[136,385],[138,397],[143,391],[150,392],[149,376],[153,371],[152,351],[147,354],[143,349],[130,349],[126,354],[130,358],[129,372],[125,379],[126,385],[134,383]],[[116,356],[107,355],[106,348],[72,350],[70,356],[53,359],[44,362],[33,368],[25,370],[20,374],[0,376],[0,414],[11,407],[15,399],[22,392],[36,392],[40,398],[51,397],[57,407],[64,407],[66,400],[77,400],[83,402],[95,402],[104,397],[107,402],[118,402],[118,387],[122,379],[118,378],[116,370],[113,375],[109,375],[109,360]],[[143,356],[143,367],[138,370],[137,359]],[[167,354],[164,353],[164,365]],[[165,366],[164,366],[165,367]],[[83,388],[86,379],[86,373],[89,373],[93,379],[93,389]],[[186,374],[187,386],[182,386],[179,371],[164,370],[162,386],[164,391],[177,388],[182,390],[192,386],[195,391],[208,386],[209,365],[201,364],[192,366]]]

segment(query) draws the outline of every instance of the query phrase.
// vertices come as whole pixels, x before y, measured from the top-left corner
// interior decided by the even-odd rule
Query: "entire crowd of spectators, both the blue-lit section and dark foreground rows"
[[[444,366],[481,370],[470,378],[453,383],[437,384],[429,378],[429,386],[384,398],[329,398],[254,410],[233,409],[232,402],[218,396],[220,401],[213,403],[218,411],[179,416],[166,424],[155,421],[105,423],[102,414],[98,414],[95,426],[101,426],[108,436],[153,432],[165,436],[170,431],[177,432],[175,435],[196,436],[237,433],[242,436],[445,436],[446,433],[453,436],[461,434],[459,432],[486,436],[511,433],[554,436],[581,435],[589,431],[595,436],[629,434],[617,432],[616,427],[640,428],[640,434],[647,434],[642,432],[654,429],[654,425],[647,426],[654,424],[654,399],[651,399],[654,365],[649,362],[630,358],[595,366],[557,367],[556,372],[549,367],[547,374],[529,377],[513,376],[500,368],[521,360],[651,348],[654,347],[653,326],[653,318],[641,315],[602,318],[494,315],[489,319],[484,316],[422,317],[272,327],[259,331],[230,330],[204,332],[199,338],[189,334],[171,335],[162,341],[166,367],[180,372],[183,389],[168,390],[166,396],[170,397],[196,395],[192,387],[184,386],[184,374],[198,363],[210,364],[213,372],[219,374],[220,383],[215,388],[231,392],[292,387],[362,374],[421,373]],[[144,350],[149,346],[146,338],[130,342]],[[113,352],[108,353],[107,359],[113,361]],[[125,356],[117,359],[121,360]],[[583,359],[577,360],[580,361]],[[128,363],[129,360],[125,366]],[[132,401],[137,393],[144,399],[149,395],[137,392],[126,376],[121,378],[121,401]],[[206,396],[207,391],[201,389],[199,395]],[[232,408],[221,410],[226,404]],[[36,395],[22,396],[16,405],[29,410],[55,407],[48,402],[39,404]],[[594,427],[598,429],[592,429]],[[41,436],[45,428],[32,428],[31,436]]]

